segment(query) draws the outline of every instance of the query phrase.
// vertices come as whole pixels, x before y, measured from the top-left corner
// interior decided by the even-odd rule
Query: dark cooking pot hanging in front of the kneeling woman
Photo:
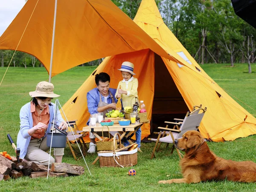
[[[53,148],[65,148],[67,146],[67,131],[60,130],[58,125],[54,125],[55,132],[47,133],[47,147],[51,146],[52,140],[52,147]]]

